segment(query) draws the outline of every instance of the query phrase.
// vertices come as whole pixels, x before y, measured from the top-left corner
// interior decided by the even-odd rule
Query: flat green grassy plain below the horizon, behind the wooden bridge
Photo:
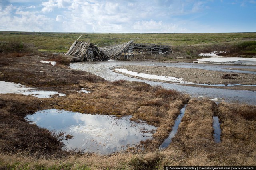
[[[80,37],[82,35],[82,37]],[[18,37],[18,38],[17,38]],[[80,41],[90,40],[103,46],[104,43],[124,43],[134,40],[136,43],[169,43],[170,45],[195,45],[237,42],[255,40],[256,33],[33,33],[33,34],[1,34],[0,41],[22,40],[24,43],[34,43],[40,51],[66,52],[80,37]]]

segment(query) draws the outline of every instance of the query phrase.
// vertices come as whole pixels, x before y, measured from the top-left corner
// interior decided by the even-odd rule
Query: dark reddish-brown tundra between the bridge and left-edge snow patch
[[[52,66],[40,63],[48,60],[40,56],[0,57],[0,80],[22,83],[27,86],[72,86],[80,81],[105,82],[89,72],[71,70],[64,65]]]

